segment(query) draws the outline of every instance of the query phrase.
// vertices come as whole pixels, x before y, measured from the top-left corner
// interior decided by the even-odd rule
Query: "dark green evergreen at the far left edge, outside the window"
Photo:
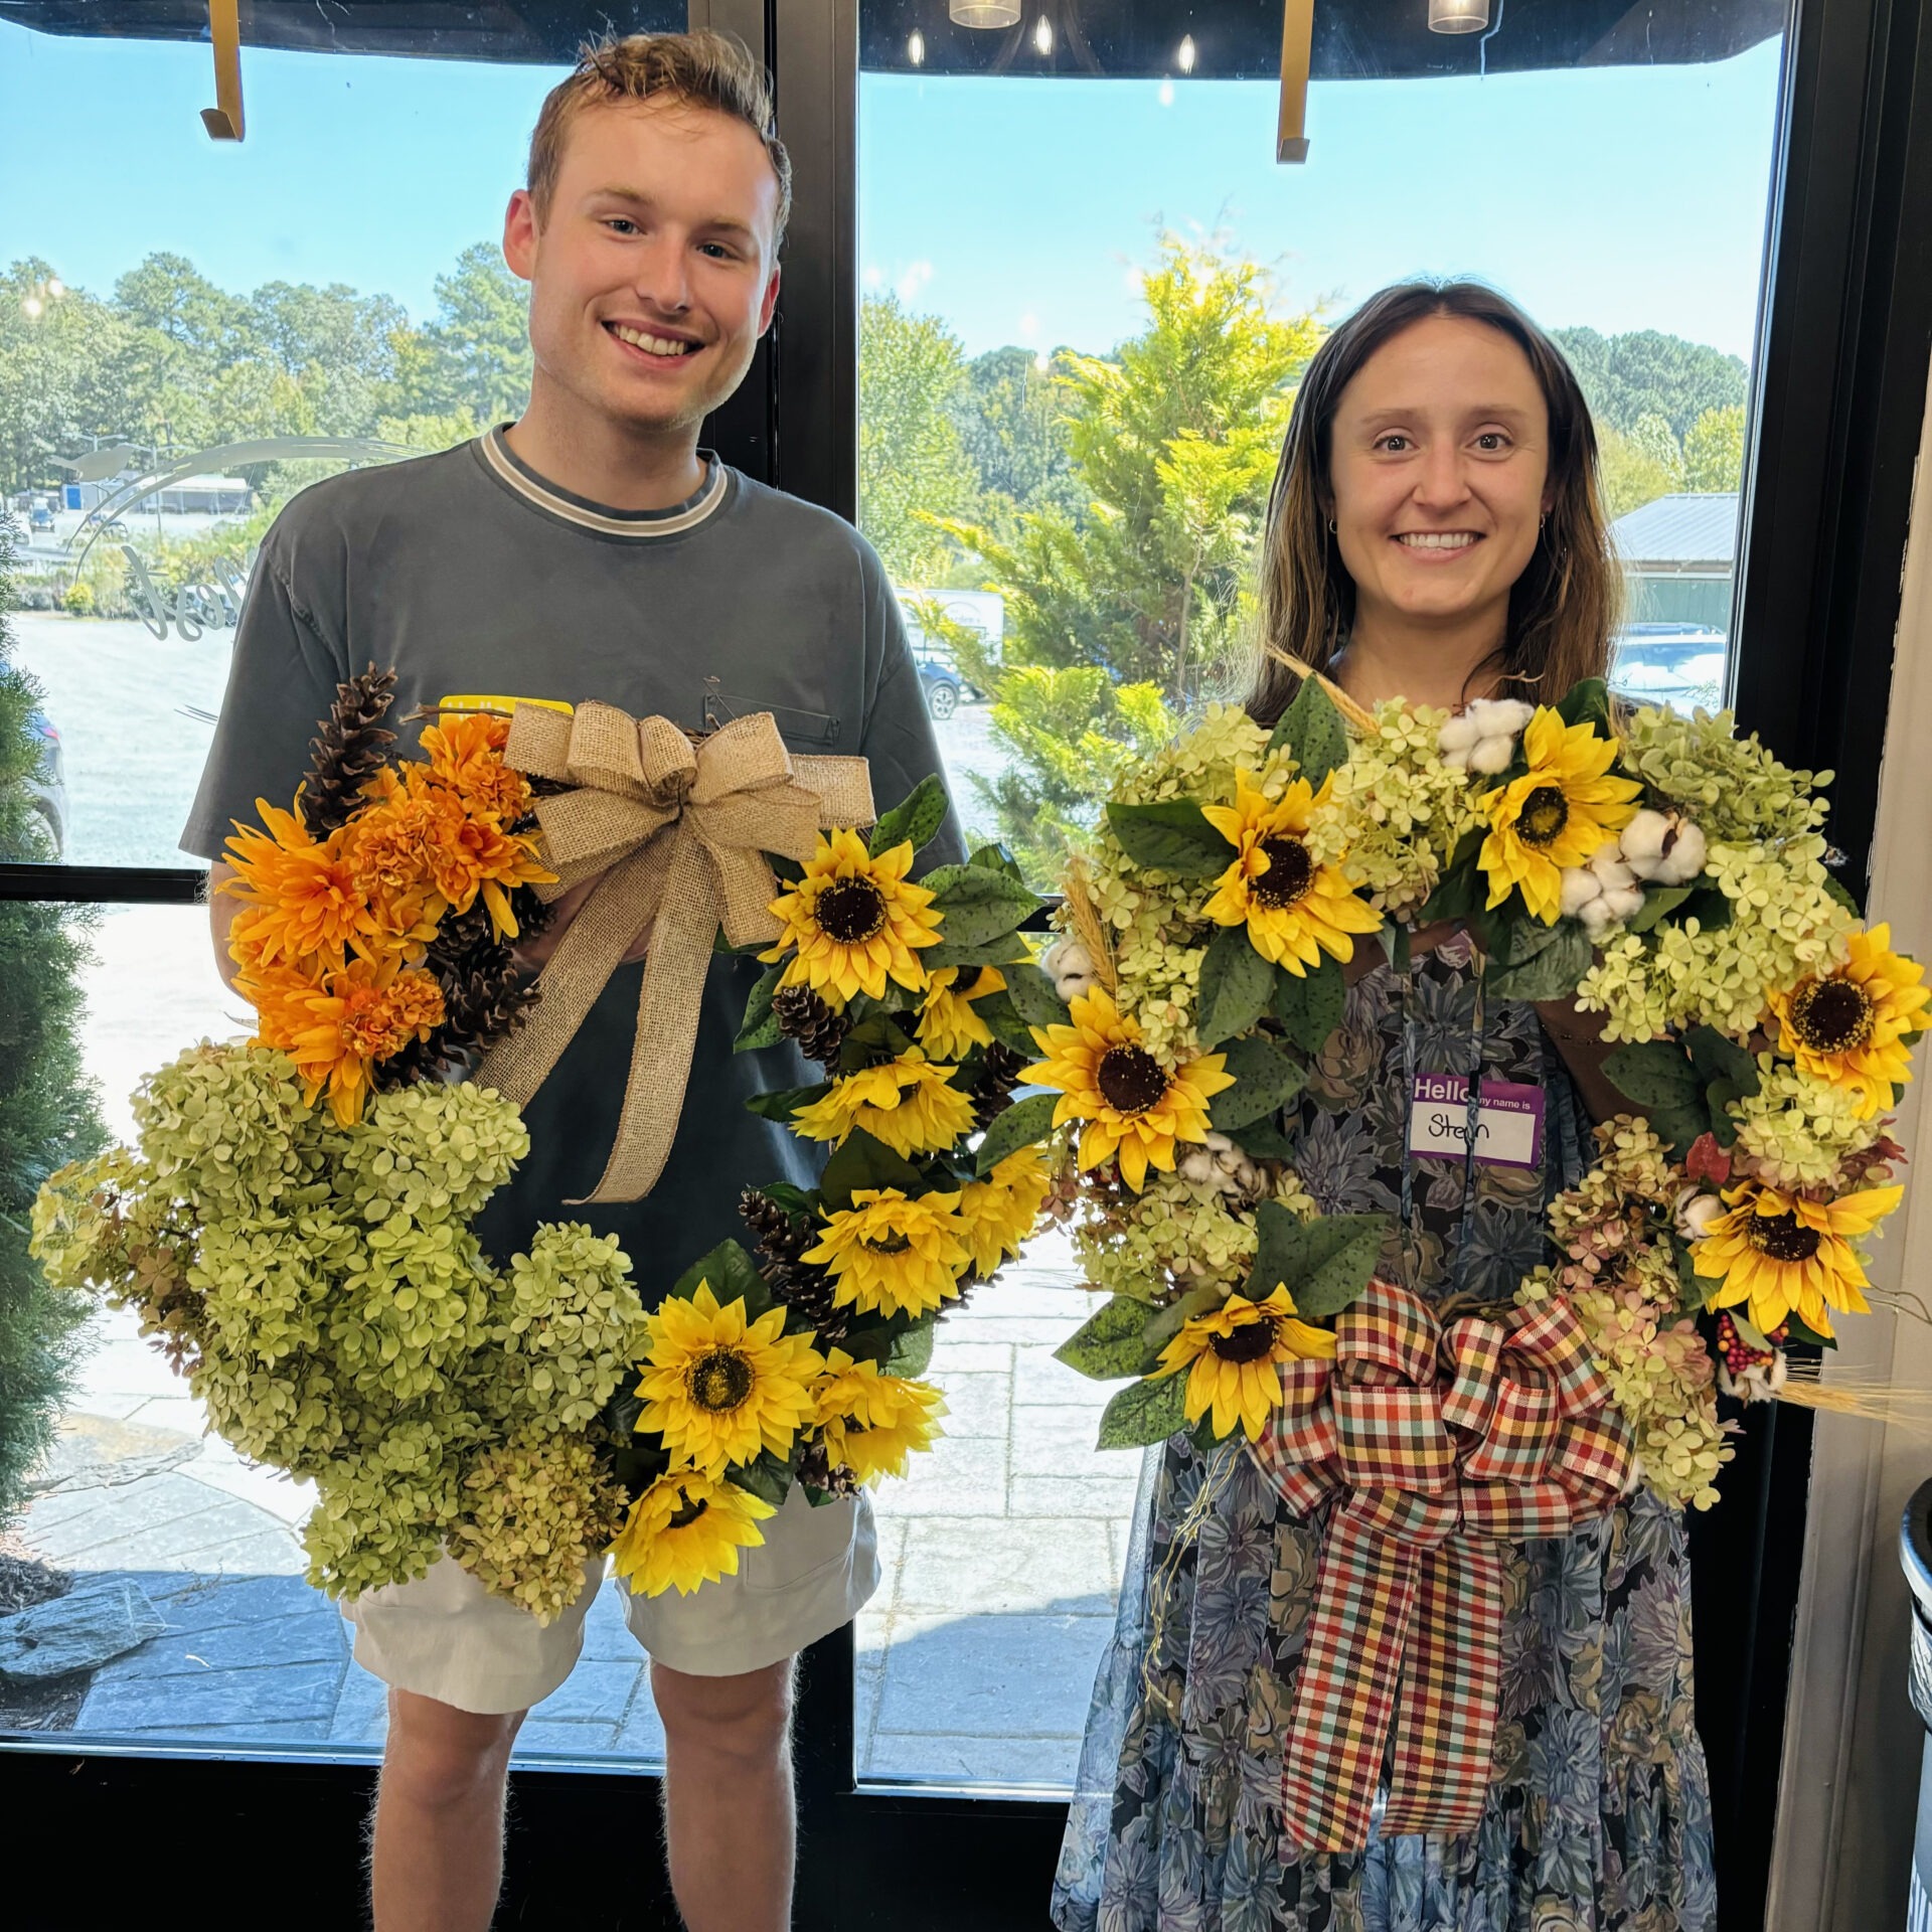
[[[12,663],[8,632],[14,543],[0,518],[0,858],[37,860],[50,854],[27,790],[41,761],[29,728],[37,692]],[[27,1254],[41,1182],[104,1140],[77,1037],[83,958],[83,920],[70,908],[0,900],[0,1528],[52,1441],[87,1318]]]

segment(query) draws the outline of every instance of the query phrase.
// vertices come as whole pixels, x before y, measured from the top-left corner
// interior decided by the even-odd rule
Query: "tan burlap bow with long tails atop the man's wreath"
[[[614,705],[572,717],[518,705],[504,759],[576,786],[537,802],[543,862],[556,873],[537,891],[556,898],[601,883],[551,954],[531,1022],[491,1051],[477,1080],[526,1105],[649,929],[624,1113],[603,1179],[583,1196],[632,1202],[670,1155],[719,927],[734,947],[777,939],[779,883],[763,854],[804,862],[821,829],[869,825],[871,779],[862,757],[792,757],[763,711],[694,742],[670,719]]]

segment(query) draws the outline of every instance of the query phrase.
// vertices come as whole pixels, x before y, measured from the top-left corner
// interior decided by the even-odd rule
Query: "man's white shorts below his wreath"
[[[763,1544],[738,1551],[736,1577],[690,1596],[626,1594],[624,1621],[659,1663],[692,1677],[761,1671],[850,1623],[879,1588],[864,1495],[813,1509],[794,1488],[763,1530]],[[415,1582],[365,1590],[342,1615],[355,1627],[355,1662],[392,1689],[458,1710],[529,1710],[578,1662],[603,1573],[603,1557],[585,1563],[576,1604],[547,1625],[450,1557]]]

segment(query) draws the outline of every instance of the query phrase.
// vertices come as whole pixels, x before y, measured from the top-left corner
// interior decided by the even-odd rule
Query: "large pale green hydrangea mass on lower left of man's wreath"
[[[226,1441],[315,1482],[319,1588],[402,1582],[448,1546],[556,1615],[612,1507],[582,1432],[647,1331],[612,1238],[545,1225],[508,1269],[483,1254],[469,1223],[529,1148],[518,1111],[421,1084],[340,1128],[286,1055],[203,1043],[135,1119],[137,1150],[37,1200],[48,1277],[135,1308]]]

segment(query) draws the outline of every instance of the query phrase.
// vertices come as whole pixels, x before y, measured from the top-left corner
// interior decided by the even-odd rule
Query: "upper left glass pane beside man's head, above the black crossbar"
[[[259,8],[251,33],[299,44],[301,12]],[[560,10],[547,52],[497,15],[413,48],[355,29],[448,58],[251,46],[240,147],[197,114],[207,44],[0,23],[0,504],[25,535],[19,659],[46,692],[60,858],[187,860],[255,547],[298,489],[522,406],[504,203],[537,104],[607,17]],[[684,4],[616,19],[682,25]]]

